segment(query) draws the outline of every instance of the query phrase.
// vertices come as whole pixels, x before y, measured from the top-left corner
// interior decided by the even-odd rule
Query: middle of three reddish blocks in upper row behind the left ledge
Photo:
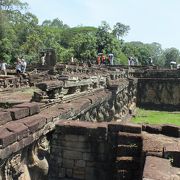
[[[28,108],[11,108],[11,109],[7,109],[7,112],[11,113],[11,117],[13,120],[18,120],[29,116]]]

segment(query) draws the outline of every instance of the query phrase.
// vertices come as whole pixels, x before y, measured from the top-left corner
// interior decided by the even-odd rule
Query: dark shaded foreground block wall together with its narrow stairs
[[[139,125],[62,120],[50,146],[49,180],[138,180],[141,176]]]

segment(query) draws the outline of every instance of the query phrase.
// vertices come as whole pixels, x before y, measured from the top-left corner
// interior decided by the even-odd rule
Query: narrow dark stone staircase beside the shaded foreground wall
[[[115,180],[141,179],[141,129],[127,126],[117,132],[117,146],[115,148]]]

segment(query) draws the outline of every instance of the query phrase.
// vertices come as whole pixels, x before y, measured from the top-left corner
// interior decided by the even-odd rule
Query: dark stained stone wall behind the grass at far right
[[[138,79],[137,105],[148,109],[179,110],[180,79]]]

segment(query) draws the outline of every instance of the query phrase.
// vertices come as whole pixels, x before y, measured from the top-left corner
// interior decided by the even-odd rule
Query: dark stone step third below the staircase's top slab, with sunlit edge
[[[140,158],[132,156],[121,156],[116,158],[116,169],[138,170],[140,168]]]

